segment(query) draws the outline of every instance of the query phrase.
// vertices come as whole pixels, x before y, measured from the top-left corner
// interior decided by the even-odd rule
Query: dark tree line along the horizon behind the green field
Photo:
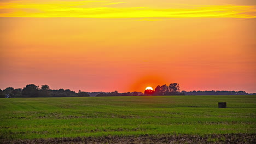
[[[110,97],[110,96],[143,96],[143,95],[248,95],[245,91],[182,91],[178,83],[170,85],[158,85],[154,90],[147,89],[141,92],[82,92],[71,91],[70,89],[50,89],[48,85],[41,87],[34,84],[26,85],[24,88],[7,87],[0,89],[0,98],[37,98],[37,97]],[[255,93],[253,93],[255,94]]]

